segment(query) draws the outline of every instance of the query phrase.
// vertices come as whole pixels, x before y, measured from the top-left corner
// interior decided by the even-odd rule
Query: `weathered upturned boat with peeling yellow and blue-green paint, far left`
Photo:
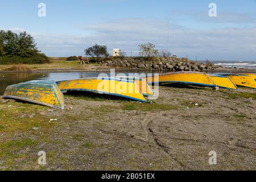
[[[7,86],[3,98],[13,98],[64,109],[64,97],[54,81],[32,80]]]

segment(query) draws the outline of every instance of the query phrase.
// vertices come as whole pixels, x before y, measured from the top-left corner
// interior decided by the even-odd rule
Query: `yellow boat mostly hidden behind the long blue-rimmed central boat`
[[[119,76],[117,78],[134,81],[139,86],[139,90],[143,96],[154,96],[154,92],[151,90],[150,86],[147,84],[147,81],[144,80],[144,78],[129,76]]]

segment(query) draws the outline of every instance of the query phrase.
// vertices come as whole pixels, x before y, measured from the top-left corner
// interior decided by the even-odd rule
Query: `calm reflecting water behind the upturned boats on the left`
[[[105,73],[106,75],[110,75],[109,72],[65,72],[65,73],[0,73],[0,95],[5,92],[6,86],[12,84],[18,84],[24,81],[30,80],[54,80],[54,81],[63,81],[63,80],[73,80],[77,78],[89,78],[89,77],[97,77],[100,73]],[[115,75],[117,75],[118,71],[115,71]],[[129,75],[129,72],[126,72],[125,75]],[[134,72],[141,74],[141,72]],[[145,72],[144,72],[145,73]],[[151,72],[146,72],[151,73]]]

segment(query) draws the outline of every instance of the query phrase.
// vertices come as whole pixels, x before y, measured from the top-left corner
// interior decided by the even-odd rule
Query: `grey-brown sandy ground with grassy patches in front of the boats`
[[[256,90],[163,85],[159,92],[145,104],[68,93],[65,110],[0,99],[0,169],[256,169]],[[217,165],[209,165],[210,151]]]

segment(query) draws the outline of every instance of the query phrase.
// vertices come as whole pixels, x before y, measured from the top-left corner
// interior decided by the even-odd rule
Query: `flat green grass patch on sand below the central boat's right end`
[[[138,111],[166,111],[177,110],[178,107],[171,104],[139,103],[139,102],[125,102],[121,109],[123,110],[138,110]]]

